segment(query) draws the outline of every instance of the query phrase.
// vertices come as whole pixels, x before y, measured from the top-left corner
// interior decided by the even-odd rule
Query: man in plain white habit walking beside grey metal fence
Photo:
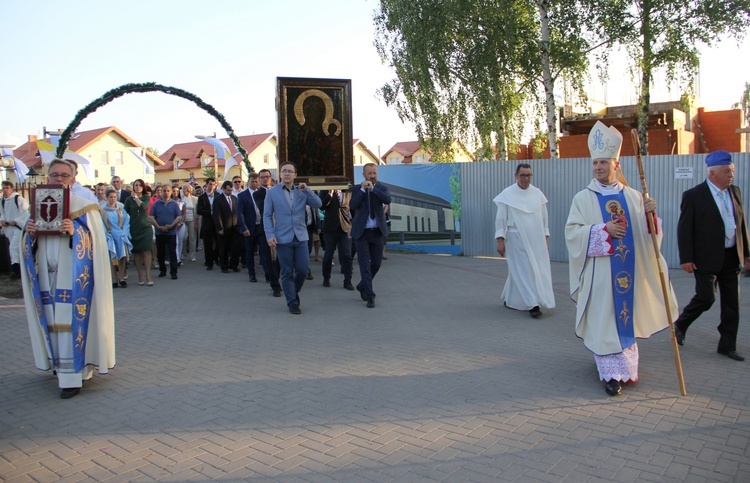
[[[547,198],[531,184],[528,164],[516,167],[516,183],[492,201],[497,205],[497,252],[508,261],[503,302],[515,310],[528,310],[533,318],[541,308],[555,307],[549,263]]]

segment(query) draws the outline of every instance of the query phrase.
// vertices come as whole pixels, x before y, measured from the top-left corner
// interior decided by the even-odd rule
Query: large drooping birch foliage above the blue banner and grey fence
[[[546,105],[550,151],[557,157],[555,82],[566,73],[580,92],[588,67],[583,3],[381,0],[376,47],[396,77],[380,95],[416,126],[436,160],[451,158],[456,138],[478,146],[478,158],[494,157],[496,144],[507,159],[528,105]]]

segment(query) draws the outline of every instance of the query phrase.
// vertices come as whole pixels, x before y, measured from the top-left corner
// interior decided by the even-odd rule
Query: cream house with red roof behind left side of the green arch
[[[46,169],[39,155],[36,141],[37,137],[30,135],[27,142],[13,150],[13,155],[41,175],[46,172]],[[49,143],[49,139],[42,139],[42,141]],[[68,143],[68,149],[87,158],[94,168],[94,179],[81,177],[79,169],[78,181],[84,185],[94,185],[100,182],[109,184],[114,175],[122,178],[126,184],[136,178],[142,178],[146,182],[153,181],[154,175],[146,173],[146,166],[130,151],[131,149],[136,150],[149,163],[152,170],[155,166],[163,164],[158,157],[146,151],[143,146],[115,126],[77,132]]]

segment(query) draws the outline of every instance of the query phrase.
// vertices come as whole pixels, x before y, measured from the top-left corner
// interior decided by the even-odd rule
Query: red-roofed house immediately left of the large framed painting
[[[242,147],[248,153],[248,159],[253,169],[257,172],[263,168],[276,169],[276,136],[273,133],[251,134],[240,136]],[[221,139],[227,145],[232,154],[237,153],[237,148],[230,138]],[[217,180],[224,179],[224,160],[215,159],[214,147],[206,141],[193,141],[189,143],[175,144],[159,157],[164,163],[156,168],[156,181],[169,183],[172,181],[187,181],[190,173],[195,179],[202,183],[206,179],[204,169],[213,168]],[[227,179],[235,175],[247,179],[247,170],[242,162],[241,156],[234,158],[239,166],[229,168]]]

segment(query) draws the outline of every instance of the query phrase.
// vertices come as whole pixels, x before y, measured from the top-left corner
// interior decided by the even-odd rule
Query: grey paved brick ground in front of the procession
[[[500,306],[497,259],[389,254],[374,309],[312,265],[302,316],[245,273],[189,263],[147,288],[132,272],[118,365],[71,400],[34,369],[20,302],[0,300],[0,480],[750,478],[750,362],[716,354],[718,308],[687,335],[688,396],[662,333],[611,398],[573,333],[565,264],[538,320]],[[683,305],[692,278],[671,275]]]

